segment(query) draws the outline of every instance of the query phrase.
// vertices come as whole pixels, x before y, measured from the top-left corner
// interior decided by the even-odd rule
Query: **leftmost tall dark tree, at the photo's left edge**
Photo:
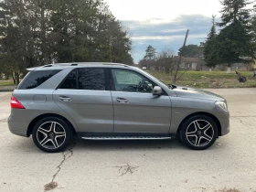
[[[20,75],[36,62],[35,7],[32,0],[5,0],[0,7],[0,65],[18,84]]]

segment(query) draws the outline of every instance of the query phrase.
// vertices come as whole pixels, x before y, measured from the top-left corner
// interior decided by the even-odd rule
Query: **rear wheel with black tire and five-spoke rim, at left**
[[[47,153],[65,150],[72,138],[69,124],[58,117],[46,117],[38,121],[32,133],[37,147]]]

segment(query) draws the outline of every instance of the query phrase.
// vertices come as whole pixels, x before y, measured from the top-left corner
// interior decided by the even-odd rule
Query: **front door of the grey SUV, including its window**
[[[171,101],[152,94],[155,83],[130,69],[111,69],[114,133],[168,133]]]

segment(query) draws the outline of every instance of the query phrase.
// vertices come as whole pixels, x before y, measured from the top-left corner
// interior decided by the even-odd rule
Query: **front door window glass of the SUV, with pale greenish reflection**
[[[154,83],[132,70],[112,69],[115,91],[148,92],[153,91]]]

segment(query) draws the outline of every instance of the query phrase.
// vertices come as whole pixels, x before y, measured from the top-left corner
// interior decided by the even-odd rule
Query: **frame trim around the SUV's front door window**
[[[132,71],[133,73],[136,73],[136,74],[138,74],[138,75],[144,77],[145,79],[152,81],[152,82],[154,83],[153,89],[155,88],[155,86],[159,86],[157,83],[155,83],[154,80],[151,80],[151,79],[149,79],[148,77],[145,77],[144,74],[142,74],[142,73],[140,73],[140,72],[138,72],[138,71],[136,71],[136,70],[132,70],[132,69],[121,69],[121,68],[110,68],[110,69],[108,69],[108,70],[109,70],[108,74],[109,74],[110,80],[112,80],[112,84],[111,84],[111,82],[110,82],[110,91],[115,91],[115,92],[131,92],[131,91],[116,91],[116,90],[115,90],[115,87],[114,87],[114,80],[113,80],[113,77],[112,77],[112,69],[120,69],[120,70]],[[161,87],[161,86],[159,86],[159,87]],[[161,87],[161,89],[163,90],[163,94],[162,94],[162,95],[163,95],[163,96],[168,96],[168,94],[166,93],[165,89],[163,89],[162,87]],[[150,93],[150,92],[132,92],[132,93],[148,94],[148,93]]]

